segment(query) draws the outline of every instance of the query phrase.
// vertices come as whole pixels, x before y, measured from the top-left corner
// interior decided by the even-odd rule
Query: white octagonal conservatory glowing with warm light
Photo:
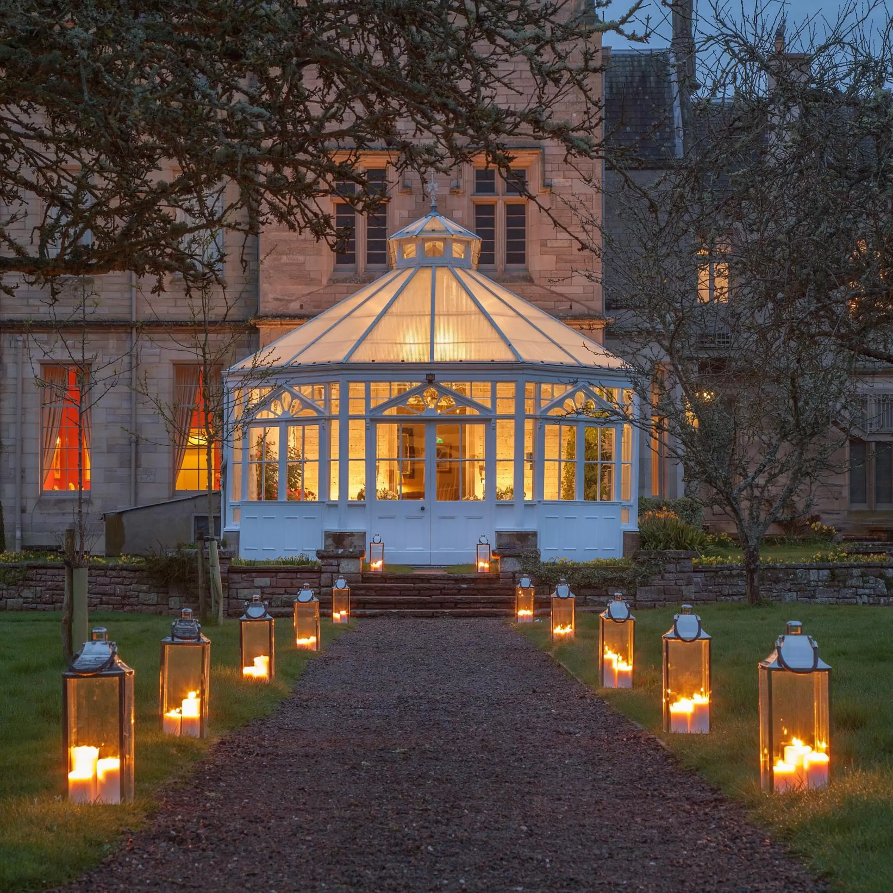
[[[379,534],[388,562],[466,563],[536,530],[544,559],[622,555],[637,411],[622,362],[477,271],[436,209],[392,269],[226,373],[224,536],[246,558]]]

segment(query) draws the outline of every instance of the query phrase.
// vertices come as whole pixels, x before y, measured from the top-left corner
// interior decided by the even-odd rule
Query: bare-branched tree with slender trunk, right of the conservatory
[[[893,360],[890,47],[853,9],[797,54],[783,22],[714,19],[690,148],[624,185],[604,251],[639,424],[734,524],[755,602],[764,535],[842,470],[860,364]]]

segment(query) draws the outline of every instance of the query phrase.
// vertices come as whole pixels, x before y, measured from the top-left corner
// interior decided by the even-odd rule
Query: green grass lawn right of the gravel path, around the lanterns
[[[663,739],[680,762],[744,802],[803,856],[833,889],[893,890],[893,612],[850,605],[704,605],[713,637],[710,735],[664,734],[661,720],[661,636],[673,609],[636,615],[636,688],[600,690],[614,708]],[[764,795],[759,789],[756,664],[772,651],[785,622],[800,620],[831,665],[829,789]],[[595,687],[596,613],[578,613],[576,641],[555,658]],[[552,650],[547,622],[518,626]]]

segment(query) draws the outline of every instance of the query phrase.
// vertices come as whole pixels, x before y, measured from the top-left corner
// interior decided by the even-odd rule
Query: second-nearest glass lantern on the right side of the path
[[[691,605],[682,605],[663,634],[663,730],[710,731],[710,637]]]

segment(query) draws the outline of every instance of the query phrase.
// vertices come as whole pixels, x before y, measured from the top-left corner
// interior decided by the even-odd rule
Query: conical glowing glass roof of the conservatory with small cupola
[[[388,241],[395,269],[263,348],[255,362],[622,365],[596,341],[475,270],[480,238],[437,211]],[[248,357],[233,371],[251,365]]]

